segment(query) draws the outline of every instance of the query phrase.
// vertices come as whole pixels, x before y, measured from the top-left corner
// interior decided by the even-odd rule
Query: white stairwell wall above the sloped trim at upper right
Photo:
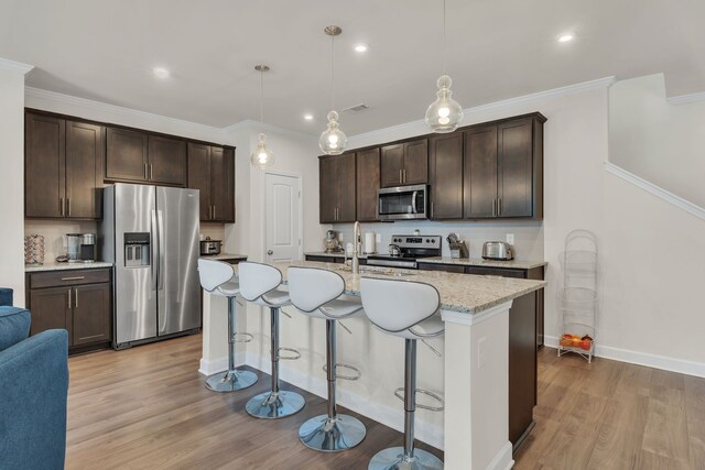
[[[670,103],[663,74],[610,88],[609,149],[615,164],[705,207],[705,100]]]

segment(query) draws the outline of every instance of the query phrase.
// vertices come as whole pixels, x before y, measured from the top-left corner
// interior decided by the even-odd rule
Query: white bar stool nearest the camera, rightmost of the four
[[[442,469],[443,461],[431,452],[414,449],[414,413],[416,406],[442,411],[443,398],[435,393],[416,389],[416,340],[443,335],[445,327],[436,315],[441,307],[438,291],[430,284],[360,278],[362,306],[370,321],[382,331],[405,339],[404,372],[404,447],[391,447],[372,457],[369,470],[381,469]],[[394,394],[401,397],[398,394]],[[441,402],[433,407],[416,404],[416,393],[423,393]]]

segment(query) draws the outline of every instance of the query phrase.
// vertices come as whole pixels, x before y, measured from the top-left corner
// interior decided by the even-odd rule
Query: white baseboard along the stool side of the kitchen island
[[[269,357],[264,358],[250,351],[245,356],[247,358],[246,362],[249,367],[265,373],[271,372],[271,362]],[[280,364],[279,373],[283,381],[292,385],[324,398],[327,396],[328,384],[322,379],[308,375],[296,369],[289,368],[286,364]],[[370,419],[375,419],[376,422],[381,423],[384,426],[389,426],[400,433],[403,433],[404,430],[404,413],[401,402],[399,407],[391,407],[375,403],[366,396],[360,396],[340,389],[338,389],[337,402],[348,409],[359,413],[362,416],[367,416]],[[414,429],[416,439],[433,446],[436,449],[443,450],[443,427],[425,423],[416,416]],[[511,458],[511,446],[509,455]]]

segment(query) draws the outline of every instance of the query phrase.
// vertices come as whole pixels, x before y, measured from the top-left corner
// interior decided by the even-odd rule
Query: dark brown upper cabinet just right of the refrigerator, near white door
[[[188,142],[188,187],[200,195],[200,220],[235,222],[235,149]]]

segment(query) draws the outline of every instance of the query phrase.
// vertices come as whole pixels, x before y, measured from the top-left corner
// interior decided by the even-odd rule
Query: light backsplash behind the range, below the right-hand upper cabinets
[[[381,236],[381,243],[377,243],[379,253],[387,253],[392,234],[413,234],[419,229],[421,234],[443,237],[443,255],[449,256],[451,249],[445,238],[456,232],[468,244],[470,258],[480,258],[482,243],[486,241],[507,241],[507,234],[514,236],[514,259],[519,261],[541,261],[543,256],[543,222],[542,221],[491,221],[491,222],[436,222],[395,221],[393,223],[360,223],[362,233],[373,231]],[[352,241],[352,225],[337,223],[333,226],[343,234],[343,245]],[[323,241],[322,241],[323,250]]]

